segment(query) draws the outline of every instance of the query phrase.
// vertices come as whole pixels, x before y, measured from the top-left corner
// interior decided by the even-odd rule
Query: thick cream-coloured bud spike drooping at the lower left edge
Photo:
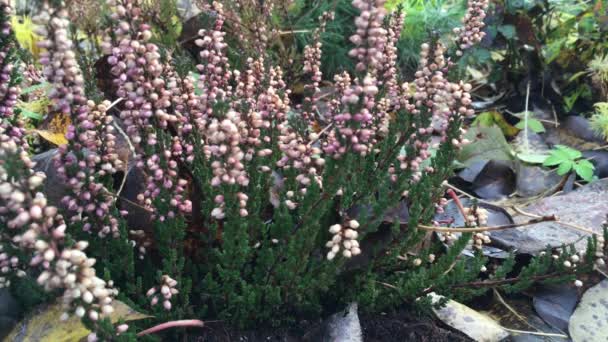
[[[33,173],[32,167],[27,153],[0,129],[0,225],[6,227],[0,262],[10,260],[14,268],[22,264],[39,270],[38,284],[47,291],[62,289],[64,305],[79,317],[88,314],[96,320],[112,313],[116,290],[96,276],[95,259],[84,253],[86,241],[66,245],[66,223],[57,208],[36,192],[44,177]],[[18,249],[25,260],[9,256],[10,249]],[[7,269],[3,266],[2,271]]]

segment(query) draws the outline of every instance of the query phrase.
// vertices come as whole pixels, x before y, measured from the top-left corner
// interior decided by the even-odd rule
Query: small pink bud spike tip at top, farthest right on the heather
[[[473,45],[481,42],[486,35],[483,32],[484,19],[486,18],[486,10],[490,5],[489,0],[468,0],[467,12],[462,19],[463,28],[456,28],[454,33],[458,34],[458,51],[462,54],[463,50],[471,48]]]

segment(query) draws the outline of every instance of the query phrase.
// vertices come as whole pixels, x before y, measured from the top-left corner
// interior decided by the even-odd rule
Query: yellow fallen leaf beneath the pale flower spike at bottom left
[[[114,301],[113,306],[114,312],[110,316],[113,323],[116,323],[120,318],[125,321],[135,321],[152,317],[139,313],[118,300]],[[77,342],[90,333],[75,315],[70,316],[66,321],[62,321],[60,319],[62,313],[63,307],[61,304],[50,305],[17,324],[5,341]]]

